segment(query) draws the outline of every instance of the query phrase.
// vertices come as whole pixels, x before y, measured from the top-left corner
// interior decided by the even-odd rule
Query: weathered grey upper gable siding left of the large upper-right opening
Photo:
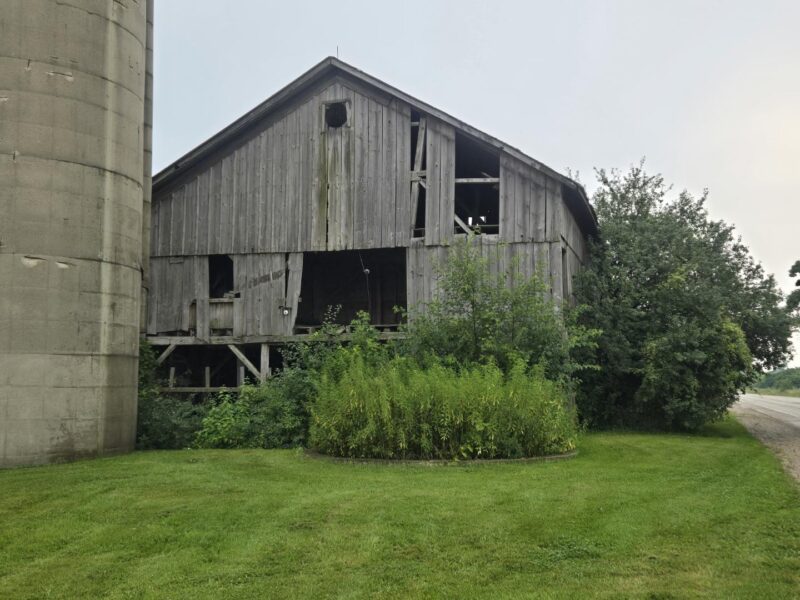
[[[324,106],[333,101],[348,103],[344,127],[325,125]],[[400,101],[373,98],[339,81],[329,84],[199,168],[180,187],[157,194],[153,254],[406,245],[410,123],[410,108]],[[454,133],[440,125],[439,135],[431,139],[434,154],[443,156],[431,196],[437,210],[449,214]],[[440,222],[442,215],[432,222]]]

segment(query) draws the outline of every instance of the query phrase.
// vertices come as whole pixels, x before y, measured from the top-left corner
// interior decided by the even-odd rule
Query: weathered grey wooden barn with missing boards
[[[464,236],[568,296],[595,231],[575,181],[327,58],[154,177],[147,335],[177,389],[236,385],[331,305],[390,337]]]

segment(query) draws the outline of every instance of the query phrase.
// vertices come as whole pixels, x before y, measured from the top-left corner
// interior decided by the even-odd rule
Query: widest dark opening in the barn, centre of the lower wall
[[[319,327],[331,307],[342,325],[363,310],[373,325],[396,329],[394,309],[406,308],[405,248],[304,253],[295,331]]]

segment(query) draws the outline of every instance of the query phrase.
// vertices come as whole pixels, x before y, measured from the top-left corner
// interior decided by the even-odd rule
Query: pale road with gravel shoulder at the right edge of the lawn
[[[800,398],[743,394],[732,410],[800,480]]]

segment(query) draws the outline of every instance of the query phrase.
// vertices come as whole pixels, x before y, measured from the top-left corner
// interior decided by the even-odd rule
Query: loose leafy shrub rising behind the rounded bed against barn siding
[[[438,267],[440,292],[424,311],[411,307],[401,353],[455,366],[491,360],[506,372],[522,360],[543,365],[549,378],[563,382],[579,369],[574,350],[591,346],[596,332],[578,325],[571,313],[559,313],[542,277],[522,277],[516,263],[493,274],[469,239]]]

